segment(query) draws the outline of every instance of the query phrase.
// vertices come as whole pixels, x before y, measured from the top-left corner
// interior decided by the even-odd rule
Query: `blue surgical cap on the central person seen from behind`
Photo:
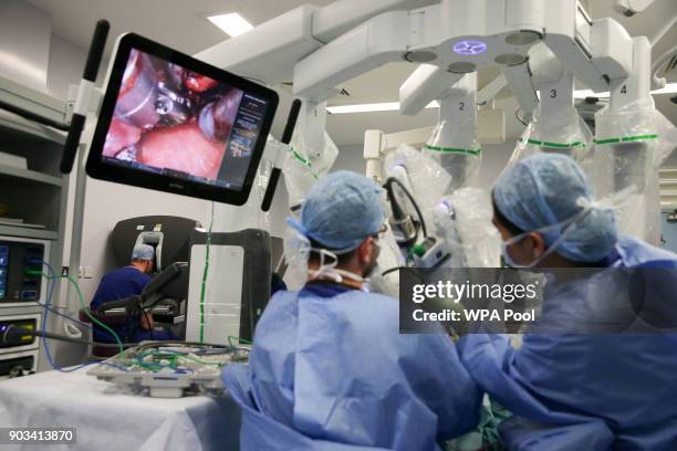
[[[381,186],[365,176],[340,170],[313,186],[300,220],[289,218],[287,222],[329,249],[348,251],[377,233],[384,221]]]

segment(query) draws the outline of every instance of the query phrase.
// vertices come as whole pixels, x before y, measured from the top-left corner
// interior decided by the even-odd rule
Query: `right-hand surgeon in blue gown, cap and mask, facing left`
[[[509,265],[602,269],[545,298],[543,315],[560,325],[584,326],[591,312],[614,306],[617,286],[601,277],[619,271],[606,269],[663,269],[663,289],[677,293],[677,255],[619,234],[611,203],[594,199],[573,159],[525,158],[501,175],[492,197]],[[586,305],[591,293],[596,305]],[[459,348],[477,384],[515,415],[501,426],[508,449],[667,451],[677,450],[673,331],[534,333],[519,349],[506,336],[468,335]]]

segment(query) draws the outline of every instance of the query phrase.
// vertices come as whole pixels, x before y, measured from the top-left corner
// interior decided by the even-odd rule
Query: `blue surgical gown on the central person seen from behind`
[[[379,294],[277,293],[248,371],[223,373],[243,407],[242,449],[429,451],[472,429],[480,394],[449,337],[398,324],[398,302]]]

